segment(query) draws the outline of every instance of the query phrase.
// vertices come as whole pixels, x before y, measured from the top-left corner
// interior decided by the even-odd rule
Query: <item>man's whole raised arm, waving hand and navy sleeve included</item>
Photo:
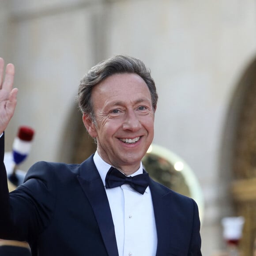
[[[17,102],[17,88],[12,88],[14,65],[0,58],[0,135],[7,128]],[[0,238],[34,241],[49,225],[55,207],[55,179],[47,165],[36,164],[28,172],[26,184],[8,192],[4,166],[4,134],[0,137]]]

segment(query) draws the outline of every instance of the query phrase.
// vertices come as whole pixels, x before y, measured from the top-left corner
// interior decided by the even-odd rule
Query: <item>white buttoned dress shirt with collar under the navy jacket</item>
[[[96,152],[94,163],[105,186],[111,167]],[[131,176],[143,173],[142,163]],[[157,233],[150,188],[141,195],[130,185],[106,189],[115,226],[119,256],[155,256]]]

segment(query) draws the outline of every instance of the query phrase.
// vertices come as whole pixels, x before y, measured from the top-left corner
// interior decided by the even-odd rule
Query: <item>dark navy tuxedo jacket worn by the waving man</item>
[[[118,256],[109,202],[92,156],[82,164],[38,162],[10,196],[3,157],[2,136],[1,238],[28,241],[33,256]],[[151,179],[149,187],[158,236],[156,255],[201,256],[194,200]]]

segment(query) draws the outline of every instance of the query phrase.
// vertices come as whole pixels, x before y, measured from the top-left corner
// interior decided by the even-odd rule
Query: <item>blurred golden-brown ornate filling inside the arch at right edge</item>
[[[239,85],[244,87],[234,138],[231,193],[237,215],[245,217],[241,249],[252,255],[256,238],[256,61]]]

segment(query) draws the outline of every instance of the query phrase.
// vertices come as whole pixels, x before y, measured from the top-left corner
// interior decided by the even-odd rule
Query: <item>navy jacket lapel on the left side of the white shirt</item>
[[[78,181],[87,196],[97,219],[102,239],[109,256],[118,256],[114,223],[102,179],[90,156],[81,164]]]

